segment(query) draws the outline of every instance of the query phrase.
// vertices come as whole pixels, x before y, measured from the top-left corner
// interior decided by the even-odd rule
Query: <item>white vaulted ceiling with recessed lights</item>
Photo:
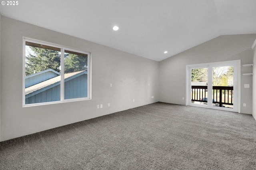
[[[256,0],[20,0],[0,12],[156,61],[220,35],[256,34]]]

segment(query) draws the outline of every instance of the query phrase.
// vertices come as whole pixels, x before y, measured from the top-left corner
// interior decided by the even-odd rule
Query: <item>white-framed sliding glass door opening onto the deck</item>
[[[186,105],[240,112],[240,60],[187,65]]]

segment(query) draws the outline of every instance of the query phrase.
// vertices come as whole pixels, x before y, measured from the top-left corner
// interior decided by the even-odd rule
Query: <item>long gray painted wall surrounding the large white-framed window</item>
[[[157,61],[4,16],[1,33],[1,141],[159,101]],[[23,36],[90,52],[92,99],[22,107]]]

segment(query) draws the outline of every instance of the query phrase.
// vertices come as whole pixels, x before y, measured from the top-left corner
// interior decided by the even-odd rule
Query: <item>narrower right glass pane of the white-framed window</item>
[[[88,55],[68,50],[64,54],[64,99],[87,97]]]

